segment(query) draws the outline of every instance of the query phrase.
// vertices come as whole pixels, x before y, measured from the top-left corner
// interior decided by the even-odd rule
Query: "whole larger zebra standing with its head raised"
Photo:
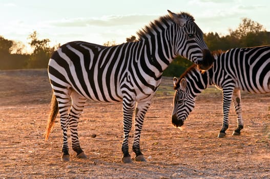
[[[168,13],[138,31],[139,38],[135,42],[104,47],[73,41],[52,54],[48,74],[53,95],[45,139],[49,137],[59,110],[63,132],[62,161],[70,160],[68,127],[72,149],[78,158],[87,158],[80,147],[77,132],[79,116],[87,99],[122,101],[123,163],[132,163],[128,139],[135,111],[132,150],[136,154],[135,161],[146,161],[140,151],[141,129],[162,72],[177,55],[190,59],[204,70],[209,69],[213,62],[194,17],[184,12],[168,10]]]

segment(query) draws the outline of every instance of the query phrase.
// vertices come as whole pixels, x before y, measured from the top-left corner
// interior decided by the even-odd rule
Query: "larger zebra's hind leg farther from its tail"
[[[77,158],[86,159],[85,152],[81,149],[78,137],[78,122],[79,117],[84,110],[86,98],[76,92],[71,94],[72,106],[69,112],[69,128],[71,132],[72,149],[77,153]]]

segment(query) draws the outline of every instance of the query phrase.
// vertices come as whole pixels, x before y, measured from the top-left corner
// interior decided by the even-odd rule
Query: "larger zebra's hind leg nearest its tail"
[[[62,161],[69,161],[69,146],[68,146],[68,127],[69,127],[69,119],[68,119],[68,111],[71,106],[70,101],[70,89],[64,88],[54,88],[54,95],[58,101],[58,108],[60,113],[60,124],[61,130],[63,132],[63,146],[62,146]]]

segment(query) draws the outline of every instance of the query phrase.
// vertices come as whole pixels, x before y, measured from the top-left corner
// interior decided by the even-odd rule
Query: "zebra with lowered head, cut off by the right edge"
[[[270,93],[270,46],[231,49],[213,53],[213,68],[201,72],[192,66],[174,78],[174,109],[172,123],[179,127],[195,106],[195,97],[209,85],[222,89],[223,125],[218,138],[225,136],[229,126],[228,116],[231,101],[237,114],[237,129],[233,135],[240,135],[243,128],[240,90],[250,93]]]

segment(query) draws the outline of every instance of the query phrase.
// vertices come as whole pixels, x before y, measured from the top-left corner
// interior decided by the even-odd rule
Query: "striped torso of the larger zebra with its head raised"
[[[125,94],[130,98],[136,96],[137,101],[151,98],[160,84],[164,69],[155,66],[161,61],[155,59],[151,64],[146,60],[146,49],[141,41],[114,47],[69,42],[52,55],[49,77],[52,84],[65,82],[66,87],[94,101],[119,102]],[[59,79],[59,76],[63,78]]]

